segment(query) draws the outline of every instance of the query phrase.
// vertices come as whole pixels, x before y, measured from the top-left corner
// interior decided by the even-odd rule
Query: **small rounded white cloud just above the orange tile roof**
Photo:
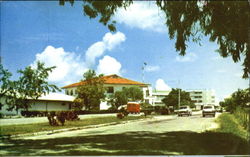
[[[115,58],[110,56],[104,56],[101,60],[99,60],[99,64],[97,66],[97,73],[105,75],[121,75],[121,67],[121,63],[118,62]]]

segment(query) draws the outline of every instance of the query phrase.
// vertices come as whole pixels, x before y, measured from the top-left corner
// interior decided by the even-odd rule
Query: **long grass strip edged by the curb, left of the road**
[[[50,126],[49,122],[0,126],[0,136],[35,133],[35,132],[40,132],[40,131],[52,131],[52,130],[58,130],[58,129],[83,127],[83,126],[98,125],[98,124],[105,124],[105,123],[111,123],[111,122],[122,122],[122,121],[136,120],[136,119],[142,119],[142,118],[145,118],[145,117],[144,116],[127,116],[123,119],[118,119],[115,116],[109,116],[109,117],[96,117],[96,118],[81,119],[79,121],[66,121],[64,126]]]

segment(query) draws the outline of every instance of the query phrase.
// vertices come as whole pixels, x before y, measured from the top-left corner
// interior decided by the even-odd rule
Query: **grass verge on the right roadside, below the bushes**
[[[216,120],[220,127],[216,132],[231,133],[247,140],[247,131],[240,125],[234,115],[229,113],[221,114]]]

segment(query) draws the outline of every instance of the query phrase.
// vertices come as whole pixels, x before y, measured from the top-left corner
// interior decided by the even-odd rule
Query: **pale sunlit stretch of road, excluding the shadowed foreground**
[[[219,114],[216,115],[218,117]],[[153,118],[145,119],[143,121],[134,121],[125,124],[104,126],[99,128],[89,128],[84,130],[62,132],[52,135],[41,135],[26,137],[25,139],[50,139],[61,137],[74,137],[74,136],[90,136],[90,135],[107,135],[107,134],[122,134],[126,132],[140,132],[147,131],[152,133],[164,133],[172,131],[192,131],[204,132],[218,127],[214,121],[214,117],[201,117],[198,112],[193,116],[154,116]]]

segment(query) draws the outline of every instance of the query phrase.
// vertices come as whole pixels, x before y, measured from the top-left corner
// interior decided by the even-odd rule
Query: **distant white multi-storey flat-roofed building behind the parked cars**
[[[196,109],[202,109],[204,105],[218,105],[216,102],[214,90],[187,90],[189,92],[191,100],[194,101]]]

